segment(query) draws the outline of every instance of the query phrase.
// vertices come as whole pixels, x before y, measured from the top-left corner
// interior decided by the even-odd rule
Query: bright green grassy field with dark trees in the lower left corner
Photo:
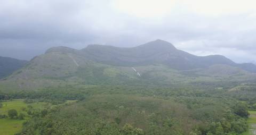
[[[10,100],[7,102],[2,102],[3,107],[0,108],[0,114],[6,114],[10,109],[16,109],[18,114],[23,113],[27,115],[26,111],[22,111],[21,108],[25,107],[27,108],[28,105],[33,106],[35,109],[43,109],[47,106],[47,103],[30,103],[26,104],[23,102],[24,99],[17,99],[17,100]],[[25,117],[25,119],[29,119],[28,116]],[[0,119],[0,134],[1,135],[9,135],[9,134],[15,134],[19,131],[21,131],[22,123],[26,120],[11,120],[11,119]]]

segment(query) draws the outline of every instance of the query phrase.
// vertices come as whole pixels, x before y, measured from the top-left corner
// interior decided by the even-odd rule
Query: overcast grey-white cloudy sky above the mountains
[[[53,46],[138,46],[256,61],[255,0],[0,0],[0,56],[30,60]]]

